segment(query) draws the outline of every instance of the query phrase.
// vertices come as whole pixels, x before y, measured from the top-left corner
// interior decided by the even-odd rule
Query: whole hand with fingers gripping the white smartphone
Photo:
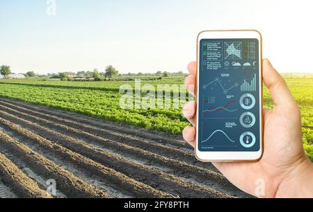
[[[274,108],[264,109],[264,155],[256,162],[214,162],[227,179],[242,191],[257,197],[313,197],[313,166],[303,150],[300,110],[280,74],[268,60],[262,61],[264,84]],[[186,87],[195,94],[197,63],[188,65]],[[195,125],[195,102],[184,114]],[[184,139],[196,148],[195,127],[186,127]]]

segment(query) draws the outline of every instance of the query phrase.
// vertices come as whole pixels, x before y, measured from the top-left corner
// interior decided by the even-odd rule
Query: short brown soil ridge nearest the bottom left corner
[[[2,145],[2,142],[1,142]],[[0,152],[1,182],[10,186],[19,197],[51,198],[46,191],[39,188],[37,182],[22,172],[10,159]]]

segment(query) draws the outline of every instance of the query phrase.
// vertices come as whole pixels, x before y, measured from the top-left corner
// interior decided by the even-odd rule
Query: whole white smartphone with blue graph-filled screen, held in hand
[[[263,154],[262,35],[207,30],[197,40],[195,156],[258,161]]]

